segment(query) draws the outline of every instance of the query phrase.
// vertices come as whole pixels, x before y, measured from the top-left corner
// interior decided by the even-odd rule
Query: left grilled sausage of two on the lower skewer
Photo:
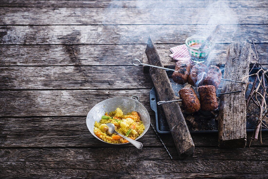
[[[185,111],[189,113],[197,112],[200,109],[200,102],[192,88],[182,88],[179,91],[180,98],[183,100]]]

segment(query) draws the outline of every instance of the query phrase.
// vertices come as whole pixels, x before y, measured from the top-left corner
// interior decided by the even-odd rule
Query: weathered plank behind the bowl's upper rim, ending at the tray
[[[140,102],[152,114],[149,92],[150,89],[0,91],[0,116],[86,116],[103,100],[133,95],[139,96]]]

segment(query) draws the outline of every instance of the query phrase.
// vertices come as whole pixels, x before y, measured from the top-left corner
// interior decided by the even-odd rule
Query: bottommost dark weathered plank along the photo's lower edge
[[[10,169],[3,168],[4,178],[267,178],[267,174],[214,174],[214,173],[170,173],[170,174],[154,174],[151,171],[148,174],[129,174],[129,173],[118,173],[118,171],[111,172],[107,174],[107,172],[100,173],[97,170],[88,170],[88,169],[43,169],[43,168],[23,168],[23,169]]]

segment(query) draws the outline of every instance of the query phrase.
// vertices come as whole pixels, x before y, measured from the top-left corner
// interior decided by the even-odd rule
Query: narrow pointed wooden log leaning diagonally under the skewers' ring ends
[[[145,52],[150,65],[163,67],[150,36]],[[150,75],[161,101],[176,100],[176,96],[165,70],[151,67]],[[162,105],[162,107],[180,158],[193,156],[195,145],[193,144],[179,104],[169,103]]]

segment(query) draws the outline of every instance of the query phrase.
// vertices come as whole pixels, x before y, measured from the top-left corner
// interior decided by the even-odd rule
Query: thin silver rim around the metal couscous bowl
[[[140,103],[139,101],[137,101],[137,100],[135,100],[135,99],[132,99],[132,98],[129,98],[129,97],[113,97],[113,98],[125,98],[125,99],[128,99],[128,100],[133,100],[133,101],[135,101],[135,103],[139,103],[140,105],[142,105],[142,107],[144,107],[144,105],[142,104],[142,103]],[[108,99],[106,99],[106,100],[110,100],[110,99],[113,99],[113,98],[108,98]],[[106,100],[103,100],[103,101],[101,101],[101,102],[99,102],[99,103],[103,103],[104,101],[106,101]],[[98,104],[99,104],[98,103]],[[98,105],[98,104],[96,104],[96,105]],[[96,106],[95,105],[95,106]],[[95,107],[94,106],[94,107]],[[90,109],[90,111],[92,110],[92,109],[94,109],[94,107],[92,107],[91,109]],[[148,114],[148,116],[149,116],[149,123],[151,123],[151,119],[150,119],[150,114],[149,114],[149,112],[147,111],[147,109],[144,107],[144,109],[146,110],[146,113]],[[88,118],[89,118],[89,113],[90,113],[90,111],[88,112],[88,114],[87,114],[87,118],[86,118],[86,123],[87,123],[87,128],[88,128],[88,130],[90,129],[90,124],[88,123]],[[141,119],[142,120],[142,119]],[[142,120],[143,121],[143,120]],[[150,125],[149,125],[150,126]],[[138,138],[136,138],[135,140],[138,140],[139,138],[141,138],[146,132],[147,132],[147,130],[149,129],[149,127],[147,127],[147,129],[144,129],[144,131],[143,131],[143,133],[142,133],[142,135],[140,135]],[[90,131],[90,130],[89,130]],[[90,131],[90,133],[95,137],[95,138],[97,138],[97,139],[99,139],[100,141],[102,141],[102,142],[105,142],[105,141],[103,141],[103,140],[101,140],[99,137],[97,137],[94,133],[92,133],[91,131]],[[108,143],[108,142],[105,142],[106,144],[111,144],[111,145],[121,145],[121,144],[112,144],[112,143]],[[124,144],[130,144],[130,143],[124,143]]]

